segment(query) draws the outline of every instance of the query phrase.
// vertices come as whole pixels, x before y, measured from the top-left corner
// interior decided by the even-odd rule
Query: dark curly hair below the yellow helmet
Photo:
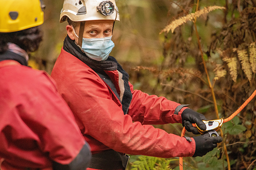
[[[34,52],[42,40],[43,33],[38,26],[12,33],[0,33],[0,54],[8,50],[8,42],[15,43],[26,52]]]

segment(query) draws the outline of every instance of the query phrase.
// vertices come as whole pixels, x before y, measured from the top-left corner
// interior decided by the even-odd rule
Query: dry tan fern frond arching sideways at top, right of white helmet
[[[203,14],[208,14],[211,11],[214,11],[215,9],[226,9],[225,7],[220,7],[220,6],[210,6],[210,7],[204,7],[204,9],[201,9],[195,13],[191,13],[188,14],[186,16],[182,16],[176,20],[174,20],[173,22],[171,22],[171,24],[167,25],[161,32],[167,32],[169,33],[169,31],[171,30],[172,33],[174,32],[174,29],[177,28],[178,26],[186,23],[187,21],[193,21],[195,18],[200,17]]]

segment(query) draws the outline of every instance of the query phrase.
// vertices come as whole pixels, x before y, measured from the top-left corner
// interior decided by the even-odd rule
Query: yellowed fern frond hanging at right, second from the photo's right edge
[[[251,81],[252,80],[252,69],[251,69],[250,63],[249,63],[248,52],[245,49],[237,50],[237,55],[241,62],[241,66],[242,66],[243,72],[245,73],[245,76],[248,78],[249,81]]]

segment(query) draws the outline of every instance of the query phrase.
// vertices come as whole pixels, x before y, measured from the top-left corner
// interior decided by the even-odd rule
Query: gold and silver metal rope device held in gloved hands
[[[205,120],[202,120],[202,121],[206,125],[206,130],[201,130],[196,124],[196,128],[197,128],[197,130],[200,134],[203,135],[203,134],[209,133],[210,136],[212,136],[212,135],[219,136],[219,134],[216,131],[219,130],[222,127],[223,118],[215,119],[215,120],[209,120],[209,121],[205,121]]]

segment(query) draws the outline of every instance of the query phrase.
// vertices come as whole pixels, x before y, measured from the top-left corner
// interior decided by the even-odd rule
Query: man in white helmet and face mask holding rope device
[[[221,137],[180,137],[152,124],[182,123],[199,134],[206,119],[164,97],[134,90],[129,75],[109,56],[113,25],[119,21],[115,0],[65,0],[60,22],[67,34],[52,78],[72,110],[93,154],[89,170],[125,169],[126,154],[154,157],[203,156]],[[122,153],[122,154],[121,154]]]

